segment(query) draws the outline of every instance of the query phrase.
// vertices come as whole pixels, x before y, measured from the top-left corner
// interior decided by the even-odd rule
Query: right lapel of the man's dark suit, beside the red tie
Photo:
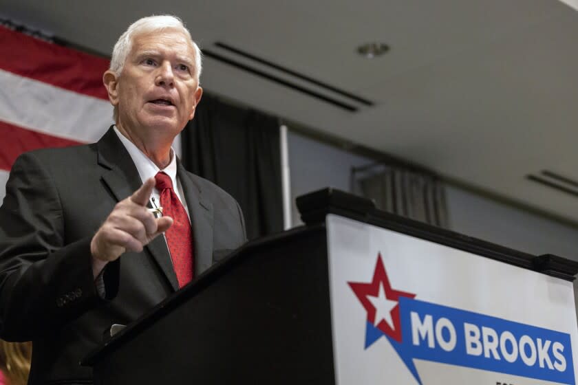
[[[213,263],[213,204],[205,199],[199,184],[184,169],[180,161],[178,161],[177,175],[191,217],[196,277]]]

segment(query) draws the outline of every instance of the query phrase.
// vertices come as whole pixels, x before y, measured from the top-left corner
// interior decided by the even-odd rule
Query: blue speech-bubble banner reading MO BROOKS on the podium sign
[[[387,339],[420,384],[414,359],[575,385],[568,333],[407,297],[399,308],[402,338]],[[383,335],[368,322],[366,347]]]

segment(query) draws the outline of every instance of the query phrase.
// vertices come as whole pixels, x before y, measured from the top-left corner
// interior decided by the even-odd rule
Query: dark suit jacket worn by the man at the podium
[[[246,240],[230,195],[178,164],[195,240],[195,274],[214,254]],[[96,292],[90,241],[116,202],[142,182],[112,129],[96,144],[21,155],[0,208],[0,337],[32,340],[29,384],[90,382],[78,365],[113,323],[128,324],[178,289],[167,245],[105,268],[107,299]]]

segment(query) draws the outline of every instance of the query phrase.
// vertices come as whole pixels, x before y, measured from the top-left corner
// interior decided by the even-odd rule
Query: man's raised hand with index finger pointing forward
[[[127,199],[116,203],[105,223],[90,242],[93,273],[98,274],[107,262],[125,252],[141,252],[158,234],[173,224],[171,217],[155,218],[147,208],[155,179],[149,178]],[[95,271],[98,270],[98,272]]]

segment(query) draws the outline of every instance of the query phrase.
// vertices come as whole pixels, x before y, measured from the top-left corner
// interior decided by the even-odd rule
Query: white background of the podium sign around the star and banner
[[[326,223],[337,385],[417,384],[386,338],[364,349],[367,313],[347,282],[372,281],[380,253],[392,289],[414,293],[416,300],[568,333],[572,360],[578,363],[572,283],[333,214]],[[414,363],[423,385],[553,384],[436,362]]]

